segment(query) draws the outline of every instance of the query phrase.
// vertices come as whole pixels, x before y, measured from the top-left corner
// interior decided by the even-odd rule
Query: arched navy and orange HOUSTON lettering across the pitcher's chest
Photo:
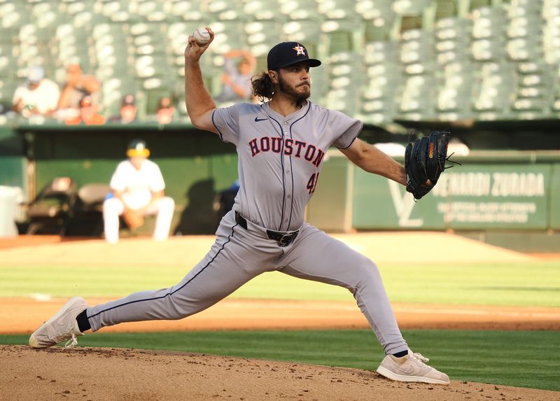
[[[282,139],[278,136],[262,136],[261,138],[255,138],[249,141],[248,145],[249,148],[251,148],[251,155],[253,155],[253,157],[261,152],[281,153],[282,151]],[[323,161],[323,157],[325,157],[325,152],[315,145],[294,139],[286,139],[284,141],[283,154],[286,156],[293,155],[294,157],[303,157],[315,167],[319,167],[319,164]]]

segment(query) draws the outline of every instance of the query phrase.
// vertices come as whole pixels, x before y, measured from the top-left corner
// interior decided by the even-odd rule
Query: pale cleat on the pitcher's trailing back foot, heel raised
[[[29,345],[33,348],[47,348],[68,340],[66,342],[67,347],[75,346],[78,344],[76,336],[84,335],[78,329],[76,316],[85,309],[87,309],[85,300],[82,297],[73,297],[64,304],[55,316],[52,316],[33,332],[29,337]]]

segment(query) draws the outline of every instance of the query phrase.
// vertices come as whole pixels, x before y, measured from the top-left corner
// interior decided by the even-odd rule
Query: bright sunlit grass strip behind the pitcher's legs
[[[560,307],[560,262],[486,265],[381,265],[392,302]],[[0,297],[122,297],[165,288],[186,271],[178,267],[0,266]],[[266,273],[232,297],[349,300],[347,290]]]

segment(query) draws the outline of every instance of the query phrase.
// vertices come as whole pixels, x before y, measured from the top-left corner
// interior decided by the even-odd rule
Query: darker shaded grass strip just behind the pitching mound
[[[404,330],[409,346],[453,380],[560,391],[558,332]],[[0,344],[28,336],[0,335]],[[80,346],[166,349],[375,370],[383,358],[369,330],[98,334]],[[560,395],[559,395],[560,397]]]

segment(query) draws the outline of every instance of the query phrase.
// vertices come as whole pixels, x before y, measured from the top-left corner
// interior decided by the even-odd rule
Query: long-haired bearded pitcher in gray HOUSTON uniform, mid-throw
[[[230,142],[239,155],[239,192],[221,220],[216,242],[176,286],[135,293],[88,307],[73,298],[34,332],[29,344],[44,348],[86,330],[130,321],[180,319],[210,307],[263,272],[342,286],[351,291],[386,353],[377,372],[389,379],[449,384],[447,374],[413,353],[398,328],[377,266],[304,221],[304,208],[321,179],[325,153],[338,148],[358,167],[407,185],[405,167],[357,138],[362,122],[309,101],[310,71],[321,66],[302,43],[283,42],[267,56],[267,71],[253,77],[262,104],[216,108],[206,90],[200,45],[185,50],[186,106],[199,129]],[[265,101],[267,100],[267,101]],[[420,183],[429,188],[430,182]]]

